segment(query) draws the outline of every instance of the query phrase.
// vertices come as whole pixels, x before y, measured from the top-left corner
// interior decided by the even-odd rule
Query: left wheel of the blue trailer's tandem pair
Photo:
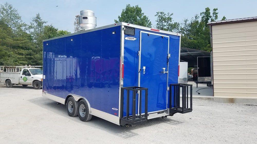
[[[68,115],[71,117],[76,117],[78,115],[78,102],[73,97],[68,98],[66,110]]]

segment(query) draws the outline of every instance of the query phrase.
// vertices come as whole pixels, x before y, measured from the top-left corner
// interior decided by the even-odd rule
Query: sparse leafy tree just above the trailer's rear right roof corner
[[[170,32],[178,32],[179,30],[179,23],[172,23],[172,16],[173,13],[164,13],[164,12],[157,12],[154,16],[157,16],[156,28],[160,30],[166,30]]]

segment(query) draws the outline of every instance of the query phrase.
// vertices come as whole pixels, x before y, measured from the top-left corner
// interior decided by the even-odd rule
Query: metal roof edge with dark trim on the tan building
[[[246,17],[237,19],[220,20],[216,22],[209,22],[208,25],[225,25],[225,24],[235,24],[235,23],[246,23],[246,22],[256,22],[257,17]]]

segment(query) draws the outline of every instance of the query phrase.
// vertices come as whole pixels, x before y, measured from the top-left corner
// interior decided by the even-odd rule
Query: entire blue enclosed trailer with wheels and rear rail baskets
[[[180,40],[123,22],[44,40],[42,95],[69,116],[121,126],[190,112],[188,85],[170,86],[179,79]]]

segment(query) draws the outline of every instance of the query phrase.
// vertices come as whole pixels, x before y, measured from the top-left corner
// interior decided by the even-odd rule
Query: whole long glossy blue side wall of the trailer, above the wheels
[[[91,108],[118,116],[120,39],[116,26],[44,42],[43,90],[83,96]]]

